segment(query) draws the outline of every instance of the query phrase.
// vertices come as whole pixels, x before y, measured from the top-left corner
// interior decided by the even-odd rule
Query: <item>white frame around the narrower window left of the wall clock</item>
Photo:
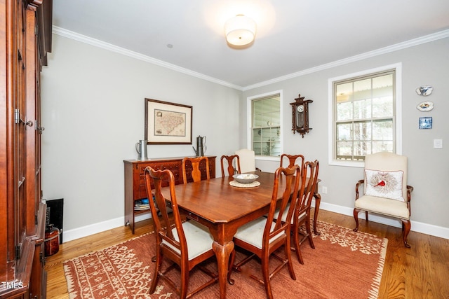
[[[283,92],[282,90],[274,90],[272,92],[266,92],[261,95],[253,95],[246,98],[246,146],[253,150],[253,100],[262,99],[266,97],[272,97],[279,95],[279,150],[283,153]],[[255,155],[256,160],[279,160],[279,156],[274,155]]]

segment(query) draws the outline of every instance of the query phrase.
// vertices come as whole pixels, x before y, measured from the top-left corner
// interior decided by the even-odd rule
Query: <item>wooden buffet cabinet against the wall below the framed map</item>
[[[215,178],[216,156],[207,156],[209,160],[210,178]],[[123,160],[125,167],[125,225],[129,225],[134,233],[135,216],[142,213],[149,213],[149,209],[135,211],[135,201],[147,198],[145,189],[145,168],[151,166],[154,169],[170,169],[175,176],[175,184],[184,183],[182,179],[182,159],[176,158],[154,158],[150,160]],[[189,165],[186,165],[186,172],[189,173]],[[201,179],[206,179],[206,165],[200,164]],[[189,176],[187,176],[189,177]],[[168,181],[163,183],[168,186]],[[153,186],[152,186],[153,187]]]

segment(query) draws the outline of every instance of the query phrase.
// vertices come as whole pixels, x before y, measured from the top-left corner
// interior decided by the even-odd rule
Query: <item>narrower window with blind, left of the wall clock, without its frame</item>
[[[248,98],[250,140],[255,155],[281,155],[281,93]]]

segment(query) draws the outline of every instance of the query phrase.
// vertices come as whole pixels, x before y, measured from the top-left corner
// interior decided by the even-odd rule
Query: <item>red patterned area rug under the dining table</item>
[[[387,251],[387,239],[365,232],[353,232],[319,221],[321,235],[314,235],[316,249],[302,244],[304,265],[292,252],[296,281],[283,268],[272,279],[275,298],[377,298]],[[154,294],[149,295],[154,263],[154,233],[130,239],[86,256],[66,260],[64,270],[69,298],[177,298],[175,291],[163,280]],[[283,253],[283,251],[281,251]],[[281,254],[280,253],[280,254]],[[237,252],[236,261],[243,258]],[[270,260],[276,267],[277,260]],[[206,265],[217,270],[215,258]],[[260,263],[252,260],[244,273],[233,272],[234,285],[227,284],[227,298],[266,298],[264,287],[248,277],[261,276]],[[172,271],[179,281],[179,272]],[[193,270],[189,289],[208,279]],[[220,298],[218,284],[194,295],[194,298]]]

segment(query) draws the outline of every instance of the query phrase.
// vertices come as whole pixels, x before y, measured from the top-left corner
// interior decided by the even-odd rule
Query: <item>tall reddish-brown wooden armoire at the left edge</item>
[[[41,67],[52,0],[0,0],[0,298],[46,298]]]

